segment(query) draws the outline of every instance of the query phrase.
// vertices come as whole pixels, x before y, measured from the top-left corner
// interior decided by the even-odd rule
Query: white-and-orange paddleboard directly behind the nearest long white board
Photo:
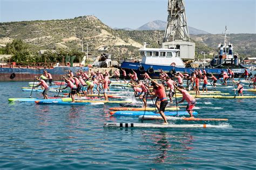
[[[139,116],[139,119],[142,120],[163,120],[161,116]],[[228,121],[228,119],[220,119],[220,118],[190,118],[190,117],[172,117],[166,116],[167,120],[170,121]]]

